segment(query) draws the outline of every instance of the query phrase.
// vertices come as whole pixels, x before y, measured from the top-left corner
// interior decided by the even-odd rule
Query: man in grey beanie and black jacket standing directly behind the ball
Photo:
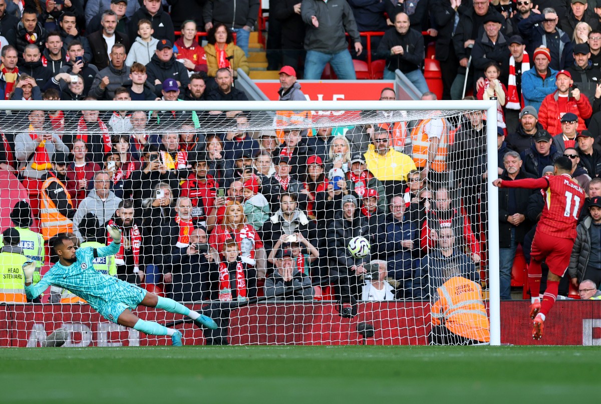
[[[335,219],[329,223],[326,234],[329,250],[330,276],[335,277],[335,292],[338,298],[348,302],[349,298],[359,298],[359,276],[365,274],[364,264],[370,261],[370,256],[353,258],[347,249],[347,241],[353,237],[370,238],[367,221],[359,215],[357,199],[345,195],[341,208],[335,213]]]

